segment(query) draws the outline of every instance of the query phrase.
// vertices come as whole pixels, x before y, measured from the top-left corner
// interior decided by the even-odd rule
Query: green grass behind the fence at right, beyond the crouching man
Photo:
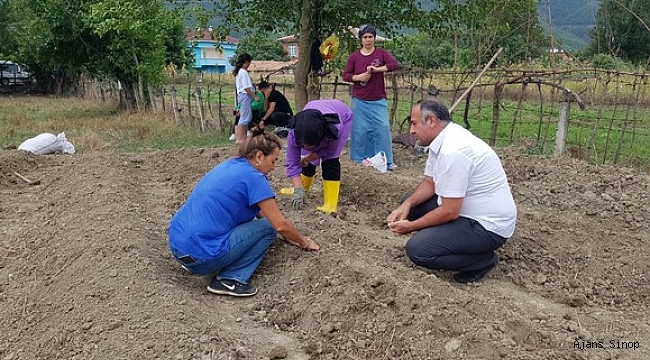
[[[463,108],[455,113],[459,123]],[[627,116],[627,120],[625,118]],[[558,104],[540,110],[539,104],[503,100],[499,111],[496,136],[492,137],[492,107],[471,109],[469,122],[474,134],[496,146],[507,146],[532,140],[531,152],[553,154],[557,135]],[[566,135],[566,148],[572,155],[598,163],[650,163],[650,118],[643,108],[624,114],[613,106],[580,110],[572,106]]]

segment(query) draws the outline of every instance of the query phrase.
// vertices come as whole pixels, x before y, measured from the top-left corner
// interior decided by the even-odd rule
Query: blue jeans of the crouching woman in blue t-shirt
[[[188,264],[179,260],[179,257],[186,254],[179,254],[172,250],[172,255],[176,261],[196,275],[217,273],[219,279],[236,280],[246,284],[277,235],[268,220],[258,219],[235,228],[230,235],[228,253],[223,256],[209,260],[195,260]]]

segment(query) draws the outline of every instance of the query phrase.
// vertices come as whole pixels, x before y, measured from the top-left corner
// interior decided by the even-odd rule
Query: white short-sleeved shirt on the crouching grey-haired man
[[[517,206],[499,156],[462,126],[449,123],[429,145],[424,174],[433,178],[440,197],[464,198],[460,216],[509,238],[515,231]]]

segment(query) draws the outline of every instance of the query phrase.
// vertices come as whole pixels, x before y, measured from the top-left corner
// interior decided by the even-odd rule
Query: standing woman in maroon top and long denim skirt
[[[372,25],[359,28],[361,49],[350,55],[343,70],[343,80],[354,83],[350,159],[361,162],[384,151],[388,170],[393,170],[395,164],[384,73],[399,69],[400,63],[388,50],[375,47],[376,35]]]

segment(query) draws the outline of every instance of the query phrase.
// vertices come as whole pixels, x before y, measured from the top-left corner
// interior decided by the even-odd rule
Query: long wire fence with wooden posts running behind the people
[[[650,74],[599,69],[492,69],[478,71],[405,69],[386,75],[391,127],[409,131],[412,105],[437,96],[454,108],[454,121],[493,146],[526,144],[531,153],[571,155],[596,164],[650,166]],[[290,70],[252,73],[295,98]],[[351,100],[351,84],[337,74],[314,76],[320,98]],[[117,101],[115,84],[87,81],[84,96]],[[461,94],[467,94],[460,98]],[[230,133],[235,118],[230,74],[182,74],[149,92],[151,110],[178,124]],[[294,106],[294,110],[296,109]]]

